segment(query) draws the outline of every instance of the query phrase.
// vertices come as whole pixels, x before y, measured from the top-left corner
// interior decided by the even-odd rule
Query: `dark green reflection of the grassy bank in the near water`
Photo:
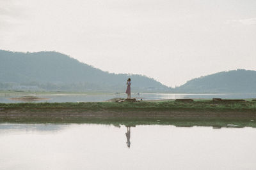
[[[177,127],[256,127],[250,118],[83,118],[83,117],[20,117],[1,118],[0,123],[35,124],[112,124],[112,125],[175,125]]]

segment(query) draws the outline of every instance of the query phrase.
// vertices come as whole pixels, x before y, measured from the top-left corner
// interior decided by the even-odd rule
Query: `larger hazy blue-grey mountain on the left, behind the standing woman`
[[[0,50],[0,89],[4,90],[125,92],[127,78],[133,92],[170,90],[153,78],[108,73],[63,53]]]

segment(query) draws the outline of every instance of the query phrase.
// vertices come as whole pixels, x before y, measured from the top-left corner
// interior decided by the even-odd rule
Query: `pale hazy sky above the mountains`
[[[173,87],[256,70],[256,1],[0,0],[0,49],[55,50]]]

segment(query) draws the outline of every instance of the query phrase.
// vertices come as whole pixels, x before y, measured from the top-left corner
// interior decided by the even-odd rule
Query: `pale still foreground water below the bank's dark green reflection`
[[[0,124],[0,151],[0,169],[255,169],[256,129]]]

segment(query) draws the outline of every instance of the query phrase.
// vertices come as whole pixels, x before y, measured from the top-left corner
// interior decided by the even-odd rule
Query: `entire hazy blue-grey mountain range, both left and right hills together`
[[[0,90],[125,92],[256,93],[256,71],[237,69],[202,76],[169,88],[138,74],[114,74],[58,52],[22,53],[0,50]]]

